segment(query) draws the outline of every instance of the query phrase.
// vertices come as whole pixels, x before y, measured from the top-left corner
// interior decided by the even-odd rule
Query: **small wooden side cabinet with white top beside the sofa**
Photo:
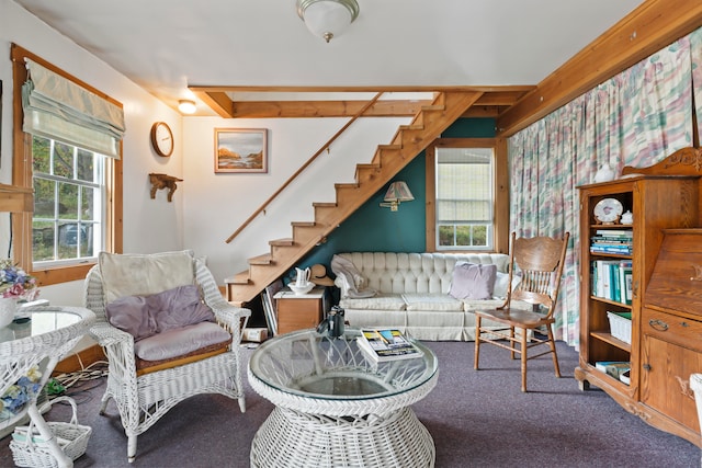
[[[307,294],[295,294],[288,287],[273,298],[278,309],[278,333],[315,328],[326,312],[326,288],[316,286]]]

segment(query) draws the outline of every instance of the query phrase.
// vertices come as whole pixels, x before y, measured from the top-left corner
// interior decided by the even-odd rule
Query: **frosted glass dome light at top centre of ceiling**
[[[355,0],[297,0],[297,15],[316,36],[329,42],[359,16]]]

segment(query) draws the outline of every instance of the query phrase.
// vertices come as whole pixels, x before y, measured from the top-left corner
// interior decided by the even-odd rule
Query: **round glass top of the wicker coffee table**
[[[421,342],[411,359],[375,363],[359,349],[359,330],[341,338],[316,330],[286,333],[263,342],[251,355],[250,373],[265,385],[298,397],[359,400],[383,398],[426,384],[438,369],[437,356]]]

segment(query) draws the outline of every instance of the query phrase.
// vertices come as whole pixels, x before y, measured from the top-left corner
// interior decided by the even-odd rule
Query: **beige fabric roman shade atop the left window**
[[[124,112],[104,98],[26,59],[23,130],[120,158]]]

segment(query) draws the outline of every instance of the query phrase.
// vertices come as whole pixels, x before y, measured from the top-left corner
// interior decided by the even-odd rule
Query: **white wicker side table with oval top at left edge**
[[[0,395],[20,377],[37,366],[42,372],[42,386],[49,379],[56,364],[73,349],[95,321],[95,315],[83,307],[30,307],[22,310],[30,320],[0,329]],[[73,461],[64,454],[53,437],[48,424],[36,408],[36,397],[14,416],[0,420],[0,430],[13,425],[26,414],[42,436],[49,441],[49,450],[59,467],[72,467]]]

